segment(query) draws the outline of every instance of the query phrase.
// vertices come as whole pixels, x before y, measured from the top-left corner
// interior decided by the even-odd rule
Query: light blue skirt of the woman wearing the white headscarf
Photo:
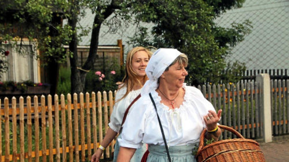
[[[197,162],[194,155],[192,155],[192,149],[196,143],[182,145],[182,146],[170,146],[168,151],[171,156],[172,162]],[[166,147],[161,145],[149,145],[149,156],[147,162],[167,162],[168,156],[166,154]]]

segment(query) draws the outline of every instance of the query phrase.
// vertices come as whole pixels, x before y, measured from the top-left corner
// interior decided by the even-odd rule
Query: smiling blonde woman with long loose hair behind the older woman
[[[135,47],[128,52],[125,66],[125,77],[123,78],[123,84],[118,88],[115,96],[116,103],[110,116],[110,123],[108,124],[109,128],[103,141],[100,143],[99,148],[95,154],[92,155],[92,162],[99,161],[104,148],[106,148],[115,138],[116,134],[120,132],[125,111],[131,102],[136,100],[136,97],[140,94],[142,86],[148,80],[145,68],[147,67],[151,54],[152,53],[144,47]],[[130,111],[131,109],[129,109],[128,112]],[[118,138],[121,138],[121,132]],[[114,148],[114,161],[117,159],[119,147],[118,141],[116,141]],[[137,149],[130,161],[139,162],[145,151],[145,145]]]

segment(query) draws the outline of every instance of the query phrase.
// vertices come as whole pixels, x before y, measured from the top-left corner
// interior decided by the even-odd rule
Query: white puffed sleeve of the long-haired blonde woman
[[[115,102],[113,106],[112,114],[110,115],[110,123],[108,124],[108,126],[115,132],[119,132],[121,128],[121,123],[123,121],[123,116],[124,116],[123,107],[125,106],[125,98],[121,99],[121,97],[125,95],[125,92],[126,92],[126,88],[123,87],[119,89],[115,95],[114,101],[117,101],[117,102]],[[121,100],[118,101],[119,99]]]

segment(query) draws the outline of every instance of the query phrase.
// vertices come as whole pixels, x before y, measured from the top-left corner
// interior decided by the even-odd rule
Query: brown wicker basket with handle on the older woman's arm
[[[231,131],[237,135],[238,138],[220,140],[204,146],[206,133],[206,129],[204,129],[201,133],[199,149],[196,156],[198,162],[265,161],[258,142],[245,139],[238,131],[231,127],[219,125],[219,128]]]

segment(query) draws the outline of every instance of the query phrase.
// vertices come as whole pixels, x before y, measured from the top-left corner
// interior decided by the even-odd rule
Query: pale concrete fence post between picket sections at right
[[[271,123],[271,99],[270,99],[270,76],[269,74],[258,74],[256,82],[260,83],[261,101],[263,108],[263,138],[264,141],[272,142],[272,123]]]

